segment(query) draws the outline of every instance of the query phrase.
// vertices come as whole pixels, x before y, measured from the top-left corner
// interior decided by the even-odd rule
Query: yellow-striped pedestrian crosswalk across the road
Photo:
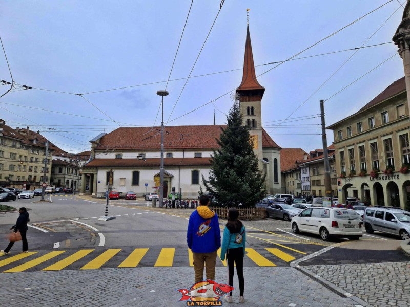
[[[300,252],[299,252],[300,253]],[[217,252],[216,266],[227,266]],[[247,248],[243,260],[245,267],[289,266],[297,253],[278,248]],[[304,253],[303,253],[304,254]],[[100,268],[182,267],[193,266],[190,249],[173,248],[95,248],[80,250],[30,251],[0,257],[0,272],[94,270]]]

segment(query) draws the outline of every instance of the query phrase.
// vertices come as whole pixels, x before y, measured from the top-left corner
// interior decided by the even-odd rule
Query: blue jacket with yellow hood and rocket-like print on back
[[[187,243],[194,253],[212,253],[221,247],[218,215],[208,206],[199,206],[192,212]]]

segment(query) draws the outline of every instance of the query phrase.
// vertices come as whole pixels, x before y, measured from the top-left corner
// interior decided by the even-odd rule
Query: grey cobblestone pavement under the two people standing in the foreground
[[[245,268],[244,276],[245,306],[358,306],[295,268]],[[0,305],[186,306],[178,302],[181,295],[175,290],[191,287],[193,277],[190,267],[6,273],[0,282]],[[215,280],[227,283],[227,271],[217,269]],[[233,292],[233,305],[239,303],[238,292]]]

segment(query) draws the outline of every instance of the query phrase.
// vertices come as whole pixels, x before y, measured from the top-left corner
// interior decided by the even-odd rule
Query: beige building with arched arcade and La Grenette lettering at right
[[[408,207],[408,114],[403,77],[357,113],[327,127],[334,131],[339,202],[355,196],[373,206]]]

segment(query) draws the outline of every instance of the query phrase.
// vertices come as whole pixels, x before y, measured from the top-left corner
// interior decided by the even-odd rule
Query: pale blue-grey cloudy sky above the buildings
[[[328,126],[404,76],[392,37],[405,2],[4,0],[0,80],[15,85],[0,118],[78,153],[118,127],[160,126],[166,89],[166,126],[211,125],[214,114],[226,124],[249,8],[262,125],[279,146],[309,152],[322,148],[320,99]],[[362,46],[372,47],[346,51]]]

